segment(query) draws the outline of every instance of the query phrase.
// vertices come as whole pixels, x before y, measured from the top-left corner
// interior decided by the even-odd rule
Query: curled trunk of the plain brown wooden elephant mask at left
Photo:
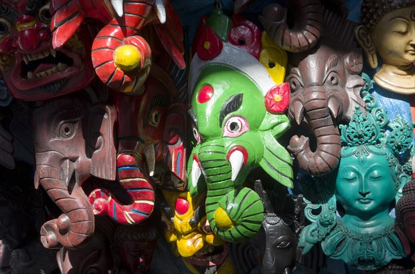
[[[49,197],[64,212],[42,226],[40,239],[45,248],[80,248],[88,242],[87,239],[95,230],[92,206],[84,190],[76,183],[68,186],[66,181],[39,179]]]

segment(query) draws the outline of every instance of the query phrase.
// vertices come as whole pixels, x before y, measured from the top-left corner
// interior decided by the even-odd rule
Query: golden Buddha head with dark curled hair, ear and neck
[[[360,17],[365,25],[356,28],[355,36],[369,66],[378,66],[378,55],[382,59],[376,84],[415,94],[415,1],[364,1]]]

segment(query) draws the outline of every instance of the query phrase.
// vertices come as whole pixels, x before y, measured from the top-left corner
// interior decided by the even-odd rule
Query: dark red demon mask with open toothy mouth
[[[4,2],[4,1],[3,1]],[[93,79],[87,25],[55,50],[49,1],[5,1],[0,10],[0,70],[13,97],[50,99],[80,90]]]

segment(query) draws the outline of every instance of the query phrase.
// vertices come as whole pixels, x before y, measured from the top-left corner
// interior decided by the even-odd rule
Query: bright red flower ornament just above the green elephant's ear
[[[273,86],[264,98],[266,110],[270,113],[281,113],[288,108],[290,101],[290,86],[288,83]]]

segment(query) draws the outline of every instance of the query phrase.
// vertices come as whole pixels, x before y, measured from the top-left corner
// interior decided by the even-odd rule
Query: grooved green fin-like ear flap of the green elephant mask
[[[293,188],[293,162],[288,151],[277,142],[271,130],[261,133],[261,138],[264,156],[259,165],[279,184]]]

